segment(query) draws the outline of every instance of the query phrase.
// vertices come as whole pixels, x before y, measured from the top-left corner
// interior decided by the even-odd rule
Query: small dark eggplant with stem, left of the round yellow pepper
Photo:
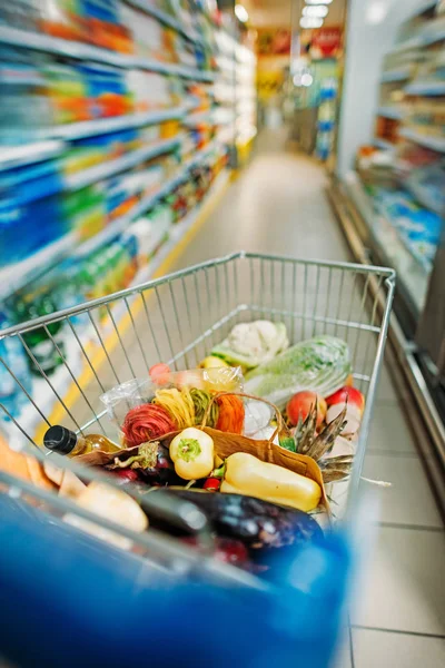
[[[150,485],[184,483],[175,472],[168,448],[157,442],[142,443],[137,453],[120,461],[115,460],[109,469],[137,471],[139,480]]]

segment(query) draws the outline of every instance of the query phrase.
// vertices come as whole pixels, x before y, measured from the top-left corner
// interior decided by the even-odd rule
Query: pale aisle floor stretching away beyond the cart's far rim
[[[309,157],[285,148],[286,131],[265,131],[255,157],[189,245],[176,268],[234,250],[344,259],[346,245]]]

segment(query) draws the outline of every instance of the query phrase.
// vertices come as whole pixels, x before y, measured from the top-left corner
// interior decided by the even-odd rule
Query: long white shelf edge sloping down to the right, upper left
[[[55,53],[77,60],[92,60],[103,62],[115,67],[126,69],[145,69],[148,71],[160,72],[164,75],[176,75],[198,81],[212,81],[211,72],[206,72],[190,67],[152,60],[149,58],[138,58],[136,56],[127,56],[115,51],[107,51],[98,47],[91,47],[81,42],[59,39],[47,35],[20,30],[9,26],[0,26],[0,43],[11,45],[14,47],[23,47],[26,49],[36,49],[47,53]]]

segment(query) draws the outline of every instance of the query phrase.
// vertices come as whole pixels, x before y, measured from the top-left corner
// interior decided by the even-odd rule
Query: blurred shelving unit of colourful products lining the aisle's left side
[[[0,8],[1,330],[147,281],[179,247],[256,135],[256,56],[244,41],[211,0]],[[26,337],[56,395],[72,383],[68,366],[81,373],[97,327],[123,315],[83,316],[76,353],[68,321]],[[36,396],[19,348],[0,341]],[[0,403],[14,416],[7,375],[1,365]]]

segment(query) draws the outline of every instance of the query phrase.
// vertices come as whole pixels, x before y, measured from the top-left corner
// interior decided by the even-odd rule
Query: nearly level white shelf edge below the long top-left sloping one
[[[95,135],[106,135],[128,128],[139,128],[148,125],[165,122],[182,118],[188,111],[188,107],[174,107],[171,109],[157,109],[146,114],[129,114],[127,116],[117,116],[113,118],[99,118],[97,120],[86,120],[83,122],[71,122],[55,127],[50,134],[60,139],[79,139],[81,137],[92,137]]]

